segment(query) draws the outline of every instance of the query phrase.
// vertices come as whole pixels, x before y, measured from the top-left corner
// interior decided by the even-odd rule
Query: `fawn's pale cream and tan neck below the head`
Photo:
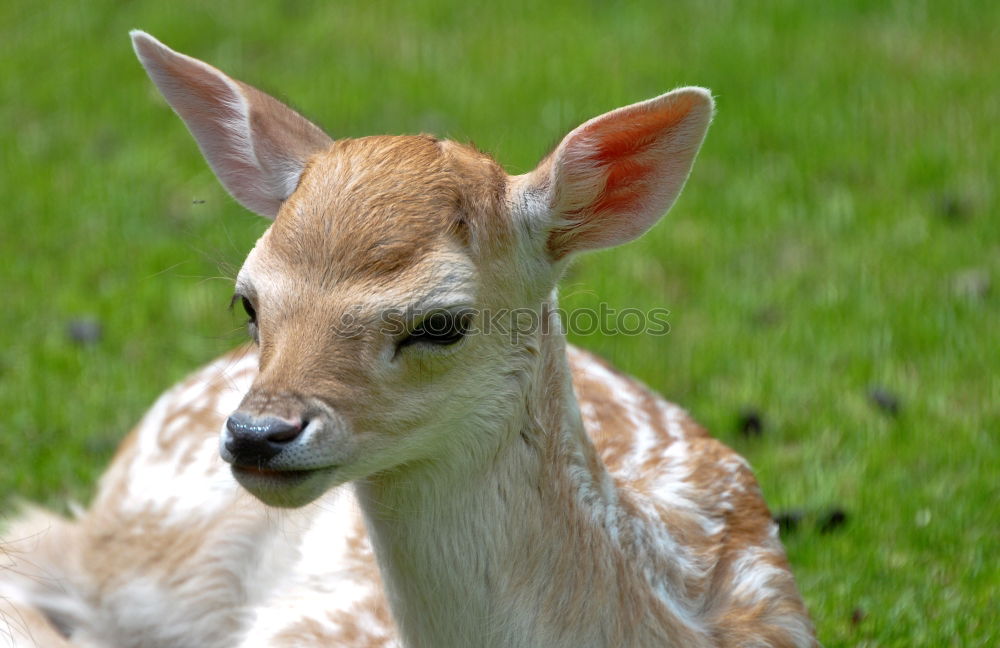
[[[584,431],[562,335],[541,335],[537,359],[508,420],[456,430],[496,436],[488,465],[357,486],[408,646],[614,645],[619,601],[644,614],[614,540],[621,493]]]

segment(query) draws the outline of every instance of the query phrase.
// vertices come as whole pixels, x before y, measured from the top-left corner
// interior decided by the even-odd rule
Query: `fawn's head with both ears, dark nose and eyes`
[[[333,140],[148,34],[132,40],[225,188],[274,220],[236,281],[260,372],[220,445],[278,506],[421,467],[475,471],[512,442],[553,333],[514,336],[520,324],[497,315],[546,321],[568,259],[648,230],[713,110],[706,90],[674,90],[584,123],[509,176],[430,136]]]

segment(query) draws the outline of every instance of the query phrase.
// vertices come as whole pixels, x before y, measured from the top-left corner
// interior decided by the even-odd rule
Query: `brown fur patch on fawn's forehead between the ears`
[[[329,287],[377,281],[441,239],[467,244],[473,229],[506,225],[505,186],[489,156],[427,135],[340,140],[310,158],[267,241],[280,263],[322,269]]]

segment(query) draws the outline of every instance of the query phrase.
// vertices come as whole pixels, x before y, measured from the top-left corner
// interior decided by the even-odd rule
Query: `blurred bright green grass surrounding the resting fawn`
[[[712,88],[668,218],[564,284],[568,308],[667,307],[671,333],[575,341],[749,458],[826,645],[997,645],[1000,3],[3,3],[8,511],[86,501],[156,395],[244,339],[228,277],[266,223],[133,27],[334,136],[433,132],[511,172]]]

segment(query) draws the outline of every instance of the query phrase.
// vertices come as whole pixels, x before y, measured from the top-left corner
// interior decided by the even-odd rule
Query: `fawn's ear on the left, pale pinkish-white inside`
[[[134,30],[132,45],[208,160],[241,205],[274,218],[314,153],[332,140],[277,99]]]

